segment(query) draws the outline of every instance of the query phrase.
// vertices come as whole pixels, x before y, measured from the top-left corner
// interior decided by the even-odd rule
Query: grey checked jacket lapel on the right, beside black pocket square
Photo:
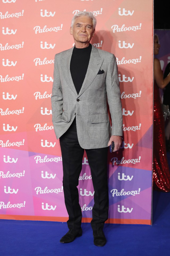
[[[90,61],[87,68],[87,73],[84,78],[84,82],[82,84],[82,88],[80,89],[80,92],[78,96],[80,96],[85,90],[91,85],[93,80],[95,79],[97,73],[99,72],[99,69],[104,61],[104,58],[101,59],[98,49],[92,46],[91,55],[90,55]]]

